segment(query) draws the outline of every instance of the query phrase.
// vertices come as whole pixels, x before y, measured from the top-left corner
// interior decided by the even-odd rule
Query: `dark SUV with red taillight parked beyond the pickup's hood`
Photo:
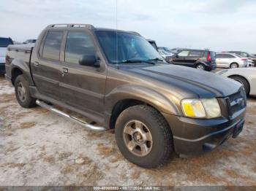
[[[189,66],[195,69],[211,71],[217,67],[215,60],[216,54],[210,50],[180,49],[168,62],[181,66]]]

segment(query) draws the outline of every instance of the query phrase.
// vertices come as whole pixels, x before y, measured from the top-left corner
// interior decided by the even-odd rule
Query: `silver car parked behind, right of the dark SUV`
[[[216,64],[218,68],[243,68],[248,66],[248,59],[232,53],[218,52]]]

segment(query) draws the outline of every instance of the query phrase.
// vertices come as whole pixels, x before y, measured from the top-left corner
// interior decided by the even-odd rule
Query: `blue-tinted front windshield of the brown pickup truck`
[[[96,35],[110,63],[162,60],[142,36],[116,31],[96,31]]]

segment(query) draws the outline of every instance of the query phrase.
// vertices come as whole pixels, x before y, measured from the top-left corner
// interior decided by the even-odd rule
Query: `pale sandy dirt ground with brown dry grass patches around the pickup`
[[[256,98],[237,139],[206,155],[148,170],[129,163],[113,132],[91,133],[36,107],[23,109],[0,77],[0,185],[256,185]]]

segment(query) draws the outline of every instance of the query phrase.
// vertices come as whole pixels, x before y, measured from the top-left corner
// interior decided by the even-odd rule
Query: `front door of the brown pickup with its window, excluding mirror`
[[[103,119],[107,68],[103,59],[100,59],[96,42],[86,29],[70,30],[66,35],[61,69],[61,97],[69,106],[86,112],[88,117]],[[79,60],[83,55],[95,55],[100,66],[96,68],[80,65]]]

